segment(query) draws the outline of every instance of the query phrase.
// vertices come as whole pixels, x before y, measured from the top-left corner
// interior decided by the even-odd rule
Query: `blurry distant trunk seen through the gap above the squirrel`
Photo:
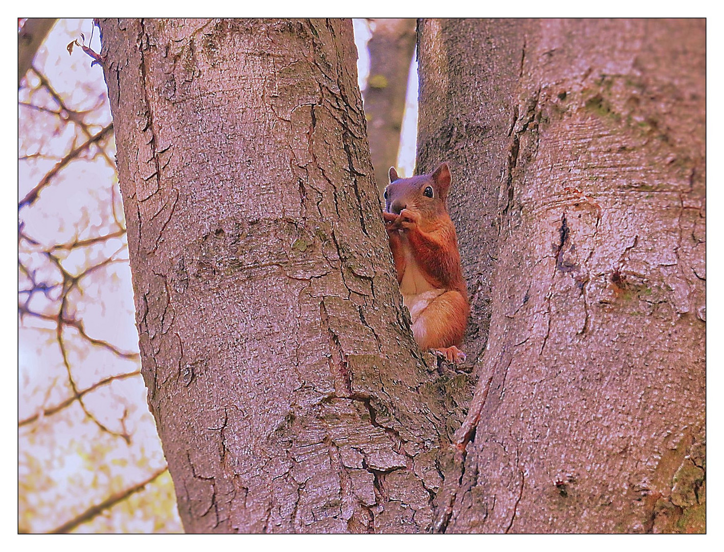
[[[413,19],[376,19],[372,38],[367,43],[369,78],[364,91],[364,111],[374,179],[380,192],[390,182],[387,171],[397,165],[415,37]]]

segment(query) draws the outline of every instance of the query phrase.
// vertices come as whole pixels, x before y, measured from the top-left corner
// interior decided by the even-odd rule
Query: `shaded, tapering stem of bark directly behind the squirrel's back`
[[[510,117],[525,20],[420,20],[418,174],[448,161],[450,216],[471,294],[466,352],[487,345],[497,260],[498,182],[508,166]]]

